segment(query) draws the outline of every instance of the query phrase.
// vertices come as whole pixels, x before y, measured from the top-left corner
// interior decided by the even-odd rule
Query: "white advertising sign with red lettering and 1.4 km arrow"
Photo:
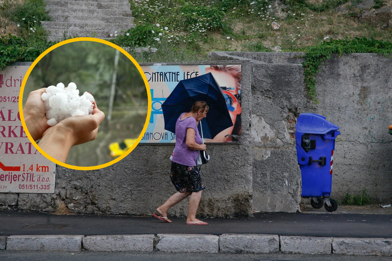
[[[54,193],[56,164],[31,144],[19,115],[19,92],[28,68],[0,70],[0,192]]]

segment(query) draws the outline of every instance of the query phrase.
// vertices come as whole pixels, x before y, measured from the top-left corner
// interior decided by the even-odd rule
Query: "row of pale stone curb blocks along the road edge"
[[[392,256],[392,238],[341,238],[258,234],[222,235],[11,235],[0,250],[162,251],[182,253],[296,253]]]

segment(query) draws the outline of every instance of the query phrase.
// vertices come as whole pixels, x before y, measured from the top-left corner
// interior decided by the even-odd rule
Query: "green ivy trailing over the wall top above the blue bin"
[[[307,48],[305,52],[306,60],[302,63],[302,66],[305,68],[305,85],[309,89],[309,96],[317,103],[315,75],[319,72],[323,61],[331,58],[332,53],[339,54],[339,57],[343,53],[355,52],[390,55],[392,53],[392,43],[388,40],[356,37],[351,40],[330,40],[328,42],[322,42],[319,45]]]

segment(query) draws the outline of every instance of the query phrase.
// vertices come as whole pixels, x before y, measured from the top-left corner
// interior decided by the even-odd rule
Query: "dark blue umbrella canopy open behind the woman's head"
[[[209,106],[207,117],[201,121],[204,138],[214,138],[233,123],[227,109],[226,99],[211,73],[181,80],[162,104],[165,130],[175,133],[175,123],[183,112],[190,112],[197,101]],[[198,126],[200,131],[200,125]],[[201,131],[200,131],[201,133]]]

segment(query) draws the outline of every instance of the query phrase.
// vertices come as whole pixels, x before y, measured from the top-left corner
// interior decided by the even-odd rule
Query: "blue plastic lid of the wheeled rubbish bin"
[[[339,127],[330,123],[322,115],[315,113],[301,113],[295,125],[297,132],[325,134],[331,130],[339,130]]]

